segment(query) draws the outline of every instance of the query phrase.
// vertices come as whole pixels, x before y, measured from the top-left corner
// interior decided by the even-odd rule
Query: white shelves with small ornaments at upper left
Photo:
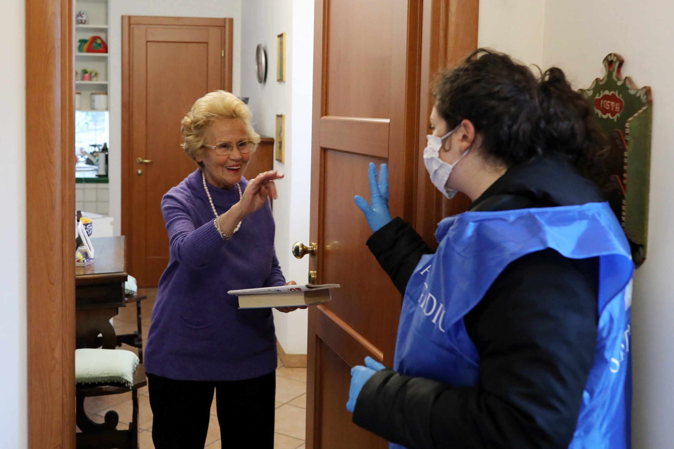
[[[75,24],[75,92],[80,94],[80,108],[78,110],[92,110],[91,94],[108,94],[109,55],[108,53],[80,53],[80,40],[88,40],[92,36],[100,36],[108,44],[109,14],[107,0],[76,0],[73,8],[86,11],[88,22],[84,25]],[[75,20],[73,18],[73,20]],[[98,72],[96,81],[82,81],[82,69]]]

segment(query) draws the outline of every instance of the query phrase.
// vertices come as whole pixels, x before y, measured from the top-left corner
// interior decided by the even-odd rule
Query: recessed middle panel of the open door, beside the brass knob
[[[397,320],[395,299],[400,294],[365,246],[372,232],[353,197],[369,192],[368,164],[379,166],[386,160],[331,150],[324,154],[324,220],[330,226],[324,227],[321,275],[342,285],[325,306],[375,347],[383,348],[395,335],[391,323]],[[383,306],[381,298],[391,304]]]

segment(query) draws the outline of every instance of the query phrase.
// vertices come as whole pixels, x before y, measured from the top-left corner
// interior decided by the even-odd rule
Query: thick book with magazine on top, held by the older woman
[[[297,307],[321,304],[332,299],[330,289],[339,284],[282,285],[280,287],[248,288],[230,290],[230,295],[239,296],[239,308]]]

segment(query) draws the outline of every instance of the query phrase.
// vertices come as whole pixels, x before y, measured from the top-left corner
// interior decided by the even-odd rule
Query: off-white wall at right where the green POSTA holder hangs
[[[653,92],[648,260],[632,300],[635,449],[674,446],[674,7],[658,0],[547,0],[543,65],[558,65],[574,87],[604,73],[604,57],[625,58],[623,75]]]

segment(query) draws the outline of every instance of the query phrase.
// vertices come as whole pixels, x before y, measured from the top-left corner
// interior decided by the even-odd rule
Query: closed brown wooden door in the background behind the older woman
[[[168,265],[162,196],[197,167],[180,146],[181,120],[197,98],[232,90],[232,25],[123,16],[122,234],[139,286],[156,287]]]

